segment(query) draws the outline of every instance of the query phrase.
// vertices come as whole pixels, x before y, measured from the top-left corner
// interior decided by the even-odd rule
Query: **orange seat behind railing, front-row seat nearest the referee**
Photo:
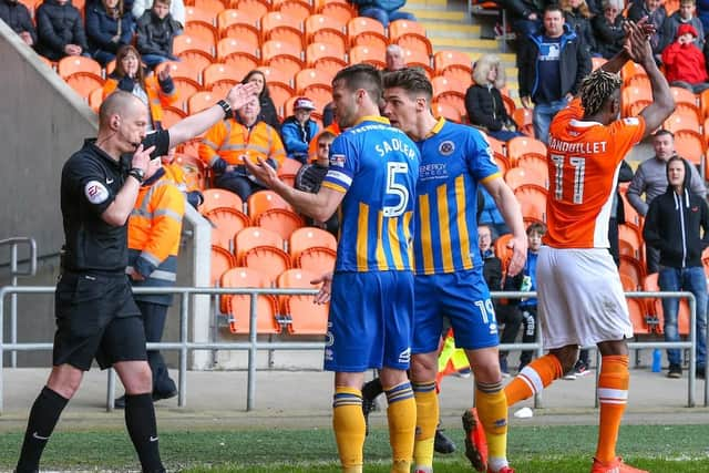
[[[222,276],[222,287],[267,288],[268,278],[253,268],[236,267]],[[229,330],[232,333],[248,333],[250,329],[251,296],[224,296],[226,299]],[[276,318],[278,301],[270,295],[256,296],[256,331],[258,333],[280,333],[281,327]]]

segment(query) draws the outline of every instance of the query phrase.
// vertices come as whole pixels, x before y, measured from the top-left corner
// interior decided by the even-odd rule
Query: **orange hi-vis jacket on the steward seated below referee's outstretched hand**
[[[253,163],[256,158],[274,160],[280,166],[286,158],[284,143],[278,132],[265,122],[250,130],[234,119],[222,121],[210,127],[199,143],[199,158],[213,167],[219,158],[227,165],[242,165],[242,156]]]

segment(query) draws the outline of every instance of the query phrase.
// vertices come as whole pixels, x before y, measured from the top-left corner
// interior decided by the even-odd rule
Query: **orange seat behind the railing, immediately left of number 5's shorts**
[[[304,269],[288,269],[278,276],[277,282],[282,289],[318,289],[318,285],[310,284],[317,278],[317,274]],[[280,308],[288,333],[327,333],[329,304],[315,304],[315,296],[308,295],[281,296]]]

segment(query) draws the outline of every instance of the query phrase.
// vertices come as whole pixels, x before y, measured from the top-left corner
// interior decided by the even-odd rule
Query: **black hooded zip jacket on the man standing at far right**
[[[685,163],[685,186],[678,195],[671,186],[653,199],[645,216],[645,243],[660,250],[660,265],[670,268],[701,266],[701,251],[709,246],[709,207],[689,192],[689,163]],[[703,238],[700,237],[703,230]]]

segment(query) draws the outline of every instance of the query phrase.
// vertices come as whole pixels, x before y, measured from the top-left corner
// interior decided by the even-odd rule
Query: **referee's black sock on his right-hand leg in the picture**
[[[152,393],[125,395],[125,426],[141,460],[143,472],[164,472],[157,448],[157,424]]]

